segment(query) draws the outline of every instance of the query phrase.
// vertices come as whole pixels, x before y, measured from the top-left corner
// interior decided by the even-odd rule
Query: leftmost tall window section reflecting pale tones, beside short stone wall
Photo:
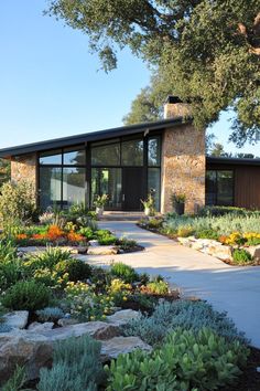
[[[69,208],[86,200],[86,152],[64,148],[39,157],[40,207]]]

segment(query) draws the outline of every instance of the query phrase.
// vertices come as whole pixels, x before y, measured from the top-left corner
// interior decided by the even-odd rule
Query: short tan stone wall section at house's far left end
[[[36,186],[36,154],[17,156],[11,161],[11,179],[26,180]]]

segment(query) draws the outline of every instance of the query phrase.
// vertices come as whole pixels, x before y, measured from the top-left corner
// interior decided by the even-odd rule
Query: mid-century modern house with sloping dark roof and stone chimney
[[[260,208],[260,159],[206,157],[205,133],[187,113],[170,97],[165,119],[4,148],[0,157],[11,160],[13,181],[35,184],[42,209],[91,207],[107,193],[107,210],[140,211],[151,190],[162,213],[173,193],[186,194],[186,212],[205,203]]]

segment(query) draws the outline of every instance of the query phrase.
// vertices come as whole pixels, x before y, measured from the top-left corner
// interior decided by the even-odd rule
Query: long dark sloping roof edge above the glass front
[[[46,141],[25,144],[21,146],[11,147],[11,148],[0,149],[0,158],[11,158],[13,156],[40,152],[48,149],[77,146],[79,144],[86,144],[89,141],[98,141],[98,140],[109,139],[113,137],[129,136],[145,130],[159,130],[171,126],[185,125],[187,123],[191,123],[191,120],[192,119],[185,119],[184,121],[183,117],[177,117],[174,119],[173,118],[162,119],[154,123],[142,123],[142,124],[122,126],[118,128],[111,128],[107,130],[91,131],[91,133],[86,133],[76,136],[62,137],[62,138],[56,138]]]

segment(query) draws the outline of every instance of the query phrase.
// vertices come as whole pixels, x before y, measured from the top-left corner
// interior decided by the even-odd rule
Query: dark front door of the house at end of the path
[[[144,170],[142,167],[126,167],[122,169],[122,209],[124,211],[142,210],[141,199],[144,199]]]

